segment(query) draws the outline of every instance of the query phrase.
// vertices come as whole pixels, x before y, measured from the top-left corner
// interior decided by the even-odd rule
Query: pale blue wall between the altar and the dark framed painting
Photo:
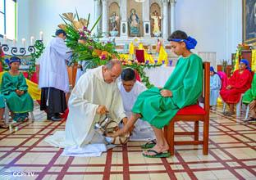
[[[217,52],[217,59],[231,59],[241,42],[240,0],[178,0],[176,29],[198,40],[194,52]]]

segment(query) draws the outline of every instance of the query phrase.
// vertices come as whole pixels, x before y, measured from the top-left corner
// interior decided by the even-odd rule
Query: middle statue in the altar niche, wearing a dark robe
[[[137,16],[135,9],[131,9],[129,25],[130,25],[130,36],[139,36],[139,16]]]

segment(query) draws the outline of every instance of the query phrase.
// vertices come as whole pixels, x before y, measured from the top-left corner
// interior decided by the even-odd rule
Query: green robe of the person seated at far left
[[[19,97],[15,90],[19,89],[25,93]],[[9,72],[2,74],[1,93],[7,99],[7,106],[13,113],[26,113],[33,111],[33,99],[27,92],[28,86],[22,73],[11,75]]]

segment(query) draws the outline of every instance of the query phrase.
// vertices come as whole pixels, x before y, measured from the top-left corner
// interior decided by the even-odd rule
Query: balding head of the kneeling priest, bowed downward
[[[106,83],[115,82],[120,76],[121,71],[121,61],[117,59],[107,61],[107,64],[103,66],[103,79]]]

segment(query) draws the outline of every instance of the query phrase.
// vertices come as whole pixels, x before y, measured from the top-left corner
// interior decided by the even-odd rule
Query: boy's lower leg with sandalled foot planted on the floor
[[[157,144],[155,146],[153,146],[153,148],[151,150],[157,151],[158,153],[168,151],[169,150],[169,145],[167,143],[167,140],[164,137],[162,129],[161,128],[155,128],[153,126],[152,126],[152,128],[153,128],[153,131],[156,135]],[[152,151],[143,151],[143,153],[144,153],[144,155],[156,155],[156,153],[154,153]]]

